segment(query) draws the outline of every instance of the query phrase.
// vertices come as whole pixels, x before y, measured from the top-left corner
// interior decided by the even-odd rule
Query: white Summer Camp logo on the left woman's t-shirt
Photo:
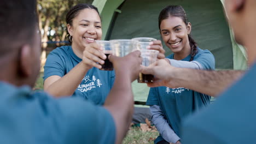
[[[77,90],[80,92],[88,92],[96,87],[102,87],[101,80],[97,79],[94,75],[92,76],[92,79],[90,79],[90,76],[86,75],[82,80],[82,83],[78,85]]]

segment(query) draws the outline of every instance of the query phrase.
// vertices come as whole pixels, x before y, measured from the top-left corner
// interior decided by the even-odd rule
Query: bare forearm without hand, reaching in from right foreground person
[[[177,68],[172,75],[177,87],[185,87],[194,91],[217,97],[233,82],[239,79],[245,71],[242,70],[194,70]],[[172,87],[172,81],[169,82]]]

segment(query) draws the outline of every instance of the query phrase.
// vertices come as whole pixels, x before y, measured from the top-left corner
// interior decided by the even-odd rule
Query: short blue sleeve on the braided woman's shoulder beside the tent
[[[203,69],[214,70],[215,69],[215,59],[212,53],[208,50],[201,50],[194,57],[193,61],[199,62]]]

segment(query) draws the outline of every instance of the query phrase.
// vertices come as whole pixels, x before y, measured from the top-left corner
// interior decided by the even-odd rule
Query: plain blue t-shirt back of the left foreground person
[[[0,143],[115,142],[115,123],[102,106],[82,98],[49,97],[0,81]]]

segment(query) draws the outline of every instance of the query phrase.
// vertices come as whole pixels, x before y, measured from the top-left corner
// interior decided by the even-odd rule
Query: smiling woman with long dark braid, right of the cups
[[[166,46],[173,52],[167,56],[174,67],[214,69],[214,56],[202,50],[191,38],[191,23],[180,5],[170,5],[159,15],[159,29]],[[210,104],[210,96],[188,88],[150,88],[147,105],[150,105],[152,122],[160,136],[155,143],[180,143],[179,128],[183,118]]]

